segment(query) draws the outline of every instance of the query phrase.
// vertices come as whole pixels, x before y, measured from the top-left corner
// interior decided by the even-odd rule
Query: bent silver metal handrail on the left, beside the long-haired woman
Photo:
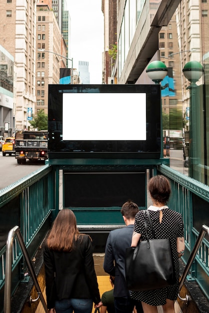
[[[18,239],[19,245],[21,247],[22,253],[24,255],[25,261],[27,263],[27,267],[30,271],[32,280],[34,282],[35,288],[37,290],[37,294],[39,294],[40,301],[43,305],[44,311],[48,313],[47,305],[45,303],[45,299],[43,297],[42,291],[40,289],[40,286],[37,281],[37,277],[35,275],[34,268],[32,267],[32,263],[29,258],[29,254],[27,252],[26,246],[24,244],[24,240],[22,238],[22,235],[20,233],[20,229],[18,226],[14,226],[10,229],[6,241],[6,264],[5,264],[5,285],[4,285],[4,313],[10,313],[11,309],[11,261],[12,261],[12,243],[14,235],[16,235],[16,238]]]

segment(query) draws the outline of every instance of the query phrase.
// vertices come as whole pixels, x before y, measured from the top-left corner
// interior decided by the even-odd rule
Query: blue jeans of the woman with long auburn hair
[[[91,299],[62,299],[55,301],[56,313],[91,313],[93,301]]]

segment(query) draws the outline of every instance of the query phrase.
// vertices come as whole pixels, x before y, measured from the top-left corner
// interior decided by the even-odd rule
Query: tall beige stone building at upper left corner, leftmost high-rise
[[[35,103],[35,1],[0,1],[0,28],[0,44],[16,64],[15,127],[22,130],[27,124],[27,108],[34,110]]]

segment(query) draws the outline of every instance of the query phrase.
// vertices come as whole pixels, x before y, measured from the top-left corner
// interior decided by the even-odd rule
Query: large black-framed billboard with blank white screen
[[[48,86],[49,158],[159,158],[159,85]]]

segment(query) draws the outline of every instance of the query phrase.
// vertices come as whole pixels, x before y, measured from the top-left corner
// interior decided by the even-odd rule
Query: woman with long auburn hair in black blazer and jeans
[[[80,233],[74,213],[61,209],[43,252],[49,313],[91,313],[102,305],[94,270],[92,244]]]

